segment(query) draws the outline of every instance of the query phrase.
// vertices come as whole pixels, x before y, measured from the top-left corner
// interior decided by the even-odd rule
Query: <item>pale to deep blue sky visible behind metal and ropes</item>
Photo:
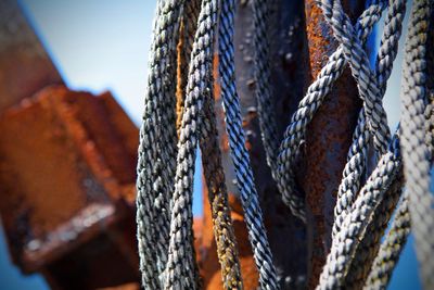
[[[110,90],[139,125],[145,89],[154,0],[21,0],[67,86]],[[381,29],[380,29],[381,31]],[[385,106],[391,127],[399,118],[400,56]],[[199,164],[197,164],[199,165]],[[201,177],[195,177],[194,213],[202,212]],[[390,289],[420,289],[412,241],[406,247]],[[0,230],[0,289],[48,289],[40,276],[22,277],[10,265]]]

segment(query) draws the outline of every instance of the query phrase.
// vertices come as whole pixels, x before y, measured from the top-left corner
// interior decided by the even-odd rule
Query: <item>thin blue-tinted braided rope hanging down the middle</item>
[[[226,114],[231,156],[241,193],[248,237],[252,243],[261,289],[279,289],[276,268],[264,227],[263,214],[256,192],[245,136],[241,126],[240,101],[235,88],[233,53],[234,1],[224,1],[219,27],[219,74],[221,97]]]

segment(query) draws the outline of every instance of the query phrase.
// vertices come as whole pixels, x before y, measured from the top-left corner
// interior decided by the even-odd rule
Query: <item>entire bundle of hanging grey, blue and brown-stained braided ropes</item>
[[[431,114],[426,117],[432,109],[425,89],[425,42],[432,3],[413,1],[403,70],[403,115],[393,138],[382,100],[398,51],[406,1],[373,0],[354,24],[341,1],[321,0],[318,5],[340,45],[307,89],[280,139],[270,86],[270,1],[252,2],[255,97],[267,164],[283,201],[301,220],[306,223],[308,209],[296,185],[295,162],[308,124],[347,65],[363,104],[337,190],[332,245],[317,289],[385,288],[410,225],[424,287],[434,288],[434,260],[430,259],[434,252],[432,138],[426,137],[433,125]],[[203,155],[224,286],[243,288],[214,112],[215,50],[219,55],[226,130],[259,285],[261,289],[279,289],[235,87],[234,7],[234,0],[157,2],[137,181],[137,236],[145,289],[201,288],[192,230],[197,147]],[[365,43],[386,8],[371,68]],[[378,160],[373,169],[368,166],[371,150]],[[365,176],[369,176],[367,180]],[[394,212],[392,227],[380,243]]]

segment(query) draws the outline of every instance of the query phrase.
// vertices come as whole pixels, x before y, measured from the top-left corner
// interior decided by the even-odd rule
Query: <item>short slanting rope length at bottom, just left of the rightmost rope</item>
[[[392,277],[396,263],[399,260],[400,252],[407,242],[410,234],[410,215],[408,212],[408,199],[404,198],[399,205],[395,219],[391,226],[385,240],[380,247],[372,269],[363,289],[385,289]]]

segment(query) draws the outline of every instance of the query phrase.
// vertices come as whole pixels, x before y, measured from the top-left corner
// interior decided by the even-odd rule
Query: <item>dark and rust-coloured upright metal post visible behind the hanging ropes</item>
[[[363,2],[344,1],[345,9],[353,20],[361,12]],[[296,110],[307,86],[318,75],[328,56],[336,49],[337,43],[315,1],[276,1],[271,18],[273,21],[270,25],[270,34],[273,34],[270,37],[272,39],[270,46],[271,86],[275,91],[277,119],[280,122],[278,126],[280,136],[282,136],[283,129],[288,125],[291,114]],[[357,98],[356,84],[349,71],[346,70],[308,128],[303,161],[298,165],[297,181],[306,193],[307,204],[314,214],[314,237],[309,238],[304,226],[291,217],[290,212],[282,204],[266,165],[256,116],[256,100],[253,93],[255,83],[252,74],[254,71],[252,34],[251,4],[248,1],[239,1],[234,38],[237,85],[241,105],[244,109],[242,114],[247,135],[246,146],[252,157],[255,182],[260,196],[275,264],[283,289],[303,288],[306,286],[306,279],[308,279],[309,287],[314,288],[330,247],[335,194],[361,102]],[[224,129],[224,114],[218,102],[219,100],[217,100],[216,110],[221,125],[219,133],[227,184],[234,197],[232,203],[239,203],[238,190],[232,181],[233,168]],[[328,169],[324,171],[324,168]],[[204,197],[206,199],[206,194]],[[205,206],[207,206],[206,203]],[[240,207],[239,205],[233,206]],[[208,215],[205,211],[204,227],[210,227]],[[206,226],[207,223],[208,226]],[[212,244],[212,232],[208,236],[206,240]],[[238,239],[239,244],[243,245],[242,248],[248,249],[246,235],[238,235]],[[308,240],[310,244],[307,247]],[[288,247],[289,243],[291,247]],[[243,252],[242,257],[245,254],[251,255],[251,252]],[[213,256],[213,253],[206,251],[206,255]],[[214,265],[215,272],[218,273],[218,264]],[[247,263],[242,265],[244,280],[251,281],[256,276],[247,277],[245,275],[247,268],[251,270],[250,273],[255,273],[253,260],[250,265]],[[311,269],[309,273],[307,273],[308,268]],[[207,280],[209,278],[205,276],[205,285],[207,285]],[[215,283],[213,287],[213,283],[208,283],[207,289],[217,289],[217,285]]]

